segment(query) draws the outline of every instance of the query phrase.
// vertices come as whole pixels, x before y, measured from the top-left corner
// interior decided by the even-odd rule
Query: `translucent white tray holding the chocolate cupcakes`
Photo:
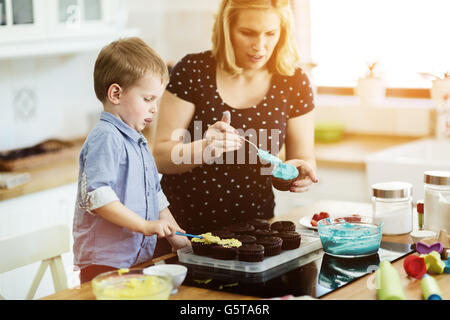
[[[245,262],[235,260],[220,260],[205,256],[199,256],[193,253],[191,247],[185,247],[177,251],[178,260],[185,264],[193,264],[198,266],[225,269],[246,273],[264,272],[275,268],[281,264],[307,255],[313,251],[322,248],[322,243],[317,237],[309,237],[302,235],[300,247],[294,250],[282,250],[280,254],[272,257],[265,257],[261,262]]]

